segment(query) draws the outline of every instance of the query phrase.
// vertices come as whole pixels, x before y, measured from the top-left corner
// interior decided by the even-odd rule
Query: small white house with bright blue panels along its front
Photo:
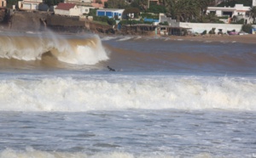
[[[100,8],[97,9],[96,15],[108,16],[108,18],[114,18],[115,16],[118,16],[119,19],[122,19],[124,11],[125,9],[120,8]]]

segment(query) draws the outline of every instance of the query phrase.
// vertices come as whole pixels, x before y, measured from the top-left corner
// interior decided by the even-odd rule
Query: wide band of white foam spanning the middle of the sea
[[[71,77],[0,81],[0,110],[256,110],[251,80],[193,77]]]

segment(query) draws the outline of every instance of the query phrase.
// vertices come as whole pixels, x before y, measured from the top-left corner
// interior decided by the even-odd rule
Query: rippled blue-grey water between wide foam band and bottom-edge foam
[[[256,116],[251,112],[1,112],[0,119],[0,148],[12,149],[2,150],[2,154],[19,150],[25,152],[23,155],[40,151],[43,157],[56,153],[105,156],[119,153],[124,157],[250,157],[256,154]]]

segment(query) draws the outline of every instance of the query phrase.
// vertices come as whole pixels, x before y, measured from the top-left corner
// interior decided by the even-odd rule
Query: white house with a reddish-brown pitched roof
[[[79,16],[81,11],[74,3],[59,3],[55,8],[55,14]]]

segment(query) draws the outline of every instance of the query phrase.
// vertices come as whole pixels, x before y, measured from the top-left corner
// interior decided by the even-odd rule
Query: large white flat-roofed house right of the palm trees
[[[207,13],[214,13],[218,17],[228,16],[229,18],[233,18],[234,16],[240,17],[240,19],[245,19],[246,23],[249,19],[247,16],[247,12],[251,7],[243,6],[243,4],[236,4],[235,7],[208,7]],[[225,21],[226,23],[230,23],[230,19]]]

